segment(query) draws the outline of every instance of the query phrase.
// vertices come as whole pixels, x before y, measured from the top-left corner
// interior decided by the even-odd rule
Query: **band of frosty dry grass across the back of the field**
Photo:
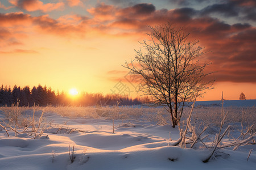
[[[248,107],[225,107],[225,112],[228,112],[228,116],[225,121],[225,125],[237,124],[242,126],[251,126],[256,122],[256,108]],[[165,125],[171,124],[170,114],[163,107],[0,107],[0,111],[5,114],[5,118],[2,118],[2,122],[6,122],[17,129],[26,128],[28,125],[38,125],[42,111],[44,113],[57,113],[65,117],[84,117],[84,118],[100,118],[105,117],[107,119],[114,120],[138,120],[146,122],[155,122],[155,124]],[[191,108],[184,108],[183,118],[181,123],[188,118]],[[36,113],[34,117],[33,112]],[[101,115],[101,116],[100,116]],[[192,124],[203,124],[204,126],[219,126],[221,121],[221,107],[201,107],[194,108],[191,118]],[[33,129],[32,128],[32,129]],[[209,129],[214,130],[214,129]],[[255,130],[255,125],[253,126]],[[213,131],[214,133],[214,131]]]

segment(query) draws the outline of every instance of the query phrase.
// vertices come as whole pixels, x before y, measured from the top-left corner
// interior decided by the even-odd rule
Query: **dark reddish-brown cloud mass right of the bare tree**
[[[246,27],[232,31],[230,29],[226,37],[219,40],[203,40],[213,51],[207,54],[212,61],[208,71],[218,71],[214,74],[218,82],[256,82],[256,29]]]

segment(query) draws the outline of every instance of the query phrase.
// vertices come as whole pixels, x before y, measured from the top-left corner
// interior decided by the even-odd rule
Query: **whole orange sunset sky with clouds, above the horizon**
[[[136,96],[122,67],[148,25],[187,27],[212,64],[214,89],[199,100],[256,99],[254,0],[1,0],[0,83]]]

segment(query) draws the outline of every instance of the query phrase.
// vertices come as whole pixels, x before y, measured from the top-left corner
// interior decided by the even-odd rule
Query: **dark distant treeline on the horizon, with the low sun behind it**
[[[19,104],[19,106],[47,106],[47,105],[75,105],[75,106],[91,106],[91,105],[136,105],[148,103],[148,97],[137,97],[132,99],[129,96],[121,96],[118,94],[102,95],[100,93],[89,94],[82,92],[76,97],[72,97],[64,92],[53,91],[51,87],[29,86],[18,87],[3,87],[0,88],[0,106],[10,107],[12,104]]]

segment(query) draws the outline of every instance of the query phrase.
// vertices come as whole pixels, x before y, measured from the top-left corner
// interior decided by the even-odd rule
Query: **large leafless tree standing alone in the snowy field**
[[[202,96],[201,91],[212,86],[213,81],[203,82],[210,74],[204,73],[209,63],[199,62],[203,48],[197,46],[199,41],[188,40],[190,33],[185,28],[170,23],[150,28],[150,40],[140,42],[143,48],[135,50],[135,58],[123,67],[141,76],[139,91],[151,96],[155,104],[165,105],[175,128],[186,101],[192,101],[197,92]]]

